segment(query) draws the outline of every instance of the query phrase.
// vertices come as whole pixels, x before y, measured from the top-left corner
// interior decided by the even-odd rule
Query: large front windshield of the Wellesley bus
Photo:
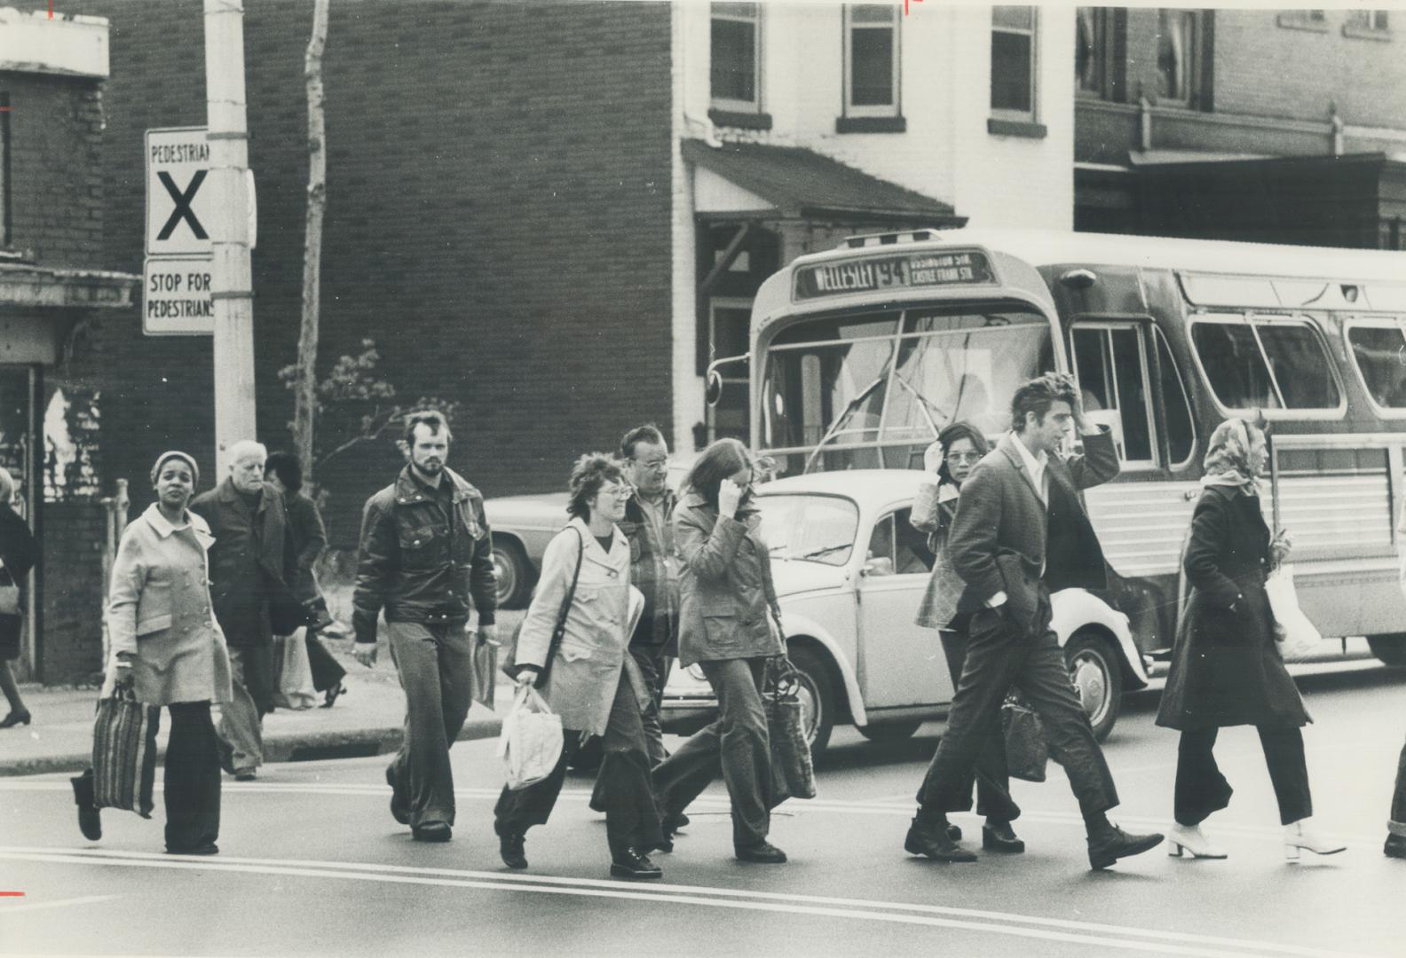
[[[921,466],[948,423],[1008,428],[1015,388],[1054,367],[1049,322],[1014,303],[817,317],[761,353],[761,448],[783,473]]]

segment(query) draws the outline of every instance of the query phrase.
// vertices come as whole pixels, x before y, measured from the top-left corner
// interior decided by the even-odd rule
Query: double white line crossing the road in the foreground
[[[398,885],[433,885],[443,888],[475,888],[488,891],[534,892],[538,895],[578,895],[583,898],[613,898],[638,902],[666,902],[727,907],[752,912],[780,912],[863,921],[890,921],[929,927],[963,929],[988,934],[1005,934],[1069,944],[1090,944],[1102,948],[1149,951],[1191,958],[1244,958],[1265,952],[1299,955],[1305,958],[1350,958],[1350,952],[1324,951],[1303,945],[1226,938],[1218,936],[1160,931],[1130,926],[1074,921],[1008,912],[918,905],[908,902],[880,902],[820,895],[787,895],[747,889],[713,888],[707,885],[657,885],[650,889],[623,886],[593,878],[565,878],[560,875],[510,875],[491,871],[457,868],[416,868],[409,865],[381,865],[343,861],[297,861],[278,858],[207,858],[202,861],[173,860],[167,855],[142,851],[104,851],[80,848],[42,848],[0,846],[0,860],[37,861],[48,864],[127,865],[131,868],[204,870],[236,874],[287,875],[298,878],[343,878]],[[628,888],[628,891],[626,891]],[[1038,927],[1043,926],[1043,927]],[[1119,936],[1119,937],[1115,937]],[[1230,948],[1227,951],[1226,948]]]

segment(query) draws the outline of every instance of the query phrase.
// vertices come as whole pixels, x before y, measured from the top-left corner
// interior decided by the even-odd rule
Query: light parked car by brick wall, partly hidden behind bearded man
[[[692,459],[671,458],[671,487],[678,489]],[[488,525],[494,530],[494,570],[498,573],[498,604],[522,608],[541,572],[541,553],[551,537],[567,524],[567,493],[495,496],[484,500]]]

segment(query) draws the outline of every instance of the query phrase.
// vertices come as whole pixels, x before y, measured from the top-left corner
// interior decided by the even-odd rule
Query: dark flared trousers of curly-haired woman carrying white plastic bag
[[[534,785],[510,791],[503,788],[494,808],[494,826],[499,834],[523,834],[534,825],[546,825],[561,795],[567,764],[581,746],[579,732],[564,732],[565,747],[551,775]],[[620,670],[610,718],[602,736],[603,757],[596,777],[596,795],[606,813],[606,841],[612,853],[636,848],[651,851],[664,841],[659,808],[650,782],[650,753],[640,701],[630,683],[630,670]]]

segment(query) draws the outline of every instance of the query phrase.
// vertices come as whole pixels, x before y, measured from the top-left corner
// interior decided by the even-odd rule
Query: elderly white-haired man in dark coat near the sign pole
[[[233,676],[233,698],[219,709],[221,760],[239,781],[263,764],[262,723],[273,711],[271,605],[287,589],[284,501],[264,482],[267,458],[262,442],[235,442],[229,475],[190,504],[215,537],[209,591]]]

